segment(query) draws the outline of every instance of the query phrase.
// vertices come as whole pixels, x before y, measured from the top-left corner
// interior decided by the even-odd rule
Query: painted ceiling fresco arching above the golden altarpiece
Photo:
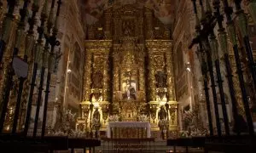
[[[154,15],[164,24],[172,24],[174,0],[84,0],[87,24],[95,23],[105,8],[114,5],[143,5],[154,10]]]

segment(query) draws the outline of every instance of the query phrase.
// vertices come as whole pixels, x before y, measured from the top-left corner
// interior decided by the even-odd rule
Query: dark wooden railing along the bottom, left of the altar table
[[[101,145],[99,139],[74,139],[62,136],[41,138],[23,137],[20,134],[1,134],[0,148],[5,152],[54,152],[54,150],[83,149],[94,153]]]

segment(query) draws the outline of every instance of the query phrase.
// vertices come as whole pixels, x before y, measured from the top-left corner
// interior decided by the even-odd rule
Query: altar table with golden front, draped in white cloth
[[[107,137],[113,139],[150,138],[149,122],[108,122]]]

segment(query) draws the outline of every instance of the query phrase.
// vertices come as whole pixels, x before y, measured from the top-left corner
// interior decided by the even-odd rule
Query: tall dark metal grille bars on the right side
[[[196,4],[195,4],[196,0],[192,0],[192,1],[194,3],[194,8],[196,9]],[[251,56],[252,53],[251,53],[251,48],[249,46],[250,44],[247,42],[247,40],[248,40],[247,22],[246,22],[247,19],[246,19],[246,16],[243,13],[241,6],[240,6],[241,1],[235,0],[235,3],[236,3],[236,10],[237,10],[236,14],[238,15],[238,19],[240,22],[239,29],[242,33],[244,45],[246,46],[247,55],[248,55],[247,58],[249,59],[249,62],[251,63],[251,65],[249,65],[249,67],[251,69],[251,73],[252,73],[252,77],[253,77],[253,75],[254,75],[253,73],[255,71],[254,71],[254,67],[253,67],[253,65],[254,65],[253,56]],[[219,13],[220,2],[218,0],[214,0],[212,2],[212,4],[213,4],[213,7],[215,8],[214,15],[212,15],[210,4],[209,4],[208,0],[206,1],[206,8],[207,8],[206,13],[204,12],[203,3],[200,0],[201,14],[202,14],[201,26],[199,26],[199,28],[196,29],[196,31],[199,31],[198,35],[193,39],[189,48],[192,48],[195,45],[195,43],[198,43],[199,46],[201,46],[201,45],[203,46],[203,49],[207,54],[207,65],[208,65],[208,71],[210,73],[211,82],[212,82],[212,96],[213,96],[213,104],[215,107],[216,124],[217,124],[217,129],[218,129],[218,136],[220,136],[221,135],[220,123],[217,120],[218,119],[218,105],[216,104],[217,97],[215,94],[216,91],[215,91],[215,86],[214,86],[214,75],[213,75],[213,71],[212,71],[212,59],[211,59],[212,55],[213,55],[213,59],[215,60],[215,68],[216,68],[217,78],[218,78],[218,90],[219,90],[220,96],[221,96],[220,98],[221,98],[221,104],[222,104],[222,110],[223,110],[223,116],[224,116],[225,133],[227,135],[230,134],[230,129],[229,129],[229,125],[228,125],[229,121],[228,121],[226,106],[225,106],[225,101],[224,101],[224,91],[223,91],[223,85],[222,85],[223,81],[222,81],[222,77],[221,77],[221,73],[220,73],[220,63],[219,63],[219,58],[218,58],[218,42],[216,41],[214,32],[213,32],[217,22],[218,22],[218,41],[220,43],[221,51],[224,52],[224,63],[225,63],[225,67],[226,67],[227,73],[228,73],[230,97],[231,97],[232,105],[233,105],[233,116],[234,116],[234,119],[236,120],[236,122],[238,122],[238,113],[236,110],[237,102],[236,102],[236,98],[235,98],[234,84],[232,81],[232,75],[231,75],[231,70],[230,70],[230,60],[229,60],[229,55],[227,52],[226,33],[224,32],[224,26],[222,25],[223,17]],[[241,61],[239,58],[238,45],[236,42],[236,30],[235,30],[234,22],[233,22],[233,20],[231,20],[231,16],[230,16],[230,14],[232,14],[232,8],[230,8],[227,0],[224,0],[224,11],[225,11],[227,21],[228,21],[227,22],[227,30],[229,33],[230,41],[233,43],[233,50],[234,50],[235,59],[236,59],[237,75],[239,77],[241,94],[242,94],[242,98],[243,98],[244,108],[246,111],[247,124],[249,127],[249,133],[250,133],[250,135],[253,135],[253,122],[252,122],[252,116],[251,116],[250,110],[249,110],[247,93],[246,93],[244,78],[243,78],[243,74],[242,74],[242,70],[241,70]],[[196,14],[196,11],[195,11],[195,14]],[[200,28],[200,27],[202,27],[202,28]],[[210,42],[209,42],[209,38],[210,38]],[[207,96],[208,95],[206,93],[206,97]],[[208,111],[208,109],[207,109],[207,111]],[[209,122],[210,122],[210,120],[209,120]]]

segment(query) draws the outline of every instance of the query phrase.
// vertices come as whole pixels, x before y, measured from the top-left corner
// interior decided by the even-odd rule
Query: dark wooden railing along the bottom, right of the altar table
[[[173,147],[176,152],[177,146],[185,147],[189,152],[189,147],[200,147],[204,152],[254,152],[256,151],[256,137],[249,135],[233,136],[213,136],[213,137],[194,137],[181,139],[167,139],[167,146]]]

